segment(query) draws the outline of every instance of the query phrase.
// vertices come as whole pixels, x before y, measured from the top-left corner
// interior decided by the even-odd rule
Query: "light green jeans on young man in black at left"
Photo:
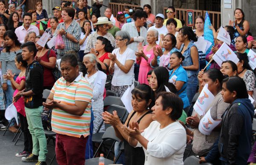
[[[26,108],[26,117],[29,125],[29,131],[32,135],[33,150],[32,154],[39,155],[38,161],[46,161],[47,154],[47,141],[44,134],[44,128],[42,125],[41,114],[43,112],[43,106],[38,108]]]

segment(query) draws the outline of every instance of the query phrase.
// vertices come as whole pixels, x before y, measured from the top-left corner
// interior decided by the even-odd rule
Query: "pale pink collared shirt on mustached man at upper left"
[[[24,28],[24,26],[20,26],[18,28],[15,29],[15,34],[17,35],[18,37],[18,40],[20,41],[20,43],[24,43],[24,40],[25,40],[25,37],[26,37],[26,34],[29,33],[29,31],[34,31],[36,36],[39,35],[39,30],[38,30],[38,27],[34,26],[34,25],[30,25],[28,30],[26,30]]]

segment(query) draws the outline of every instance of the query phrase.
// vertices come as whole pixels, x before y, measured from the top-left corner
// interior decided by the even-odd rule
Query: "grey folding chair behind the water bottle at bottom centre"
[[[105,131],[105,133],[103,134],[102,136],[102,142],[100,143],[99,145],[99,148],[97,149],[96,153],[94,154],[93,158],[92,159],[86,159],[85,163],[87,165],[98,165],[99,164],[99,157],[95,157],[97,155],[97,153],[99,152],[100,148],[102,147],[103,145],[103,142],[105,142],[106,140],[112,140],[112,145],[111,145],[111,148],[109,149],[108,151],[108,154],[107,156],[105,157],[105,164],[106,165],[109,165],[109,164],[113,164],[113,161],[108,159],[108,156],[109,154],[111,153],[111,150],[115,144],[115,142],[119,142],[120,140],[118,139],[118,137],[116,137],[116,134],[115,134],[115,130],[114,128],[111,126],[111,127],[108,127]]]

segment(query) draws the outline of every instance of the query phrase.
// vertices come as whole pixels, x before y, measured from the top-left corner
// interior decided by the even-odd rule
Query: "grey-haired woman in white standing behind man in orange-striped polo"
[[[85,78],[88,80],[91,87],[93,88],[93,101],[92,101],[92,109],[94,114],[93,134],[97,132],[102,122],[101,114],[103,112],[103,106],[104,106],[103,104],[104,88],[102,88],[102,85],[105,86],[105,83],[102,84],[101,79],[104,79],[107,77],[107,75],[102,71],[97,71],[96,63],[97,63],[96,56],[94,54],[86,54],[83,58],[83,64],[87,68],[87,74],[85,75]],[[97,80],[99,82],[96,82]],[[102,125],[99,132],[105,132],[104,125]]]

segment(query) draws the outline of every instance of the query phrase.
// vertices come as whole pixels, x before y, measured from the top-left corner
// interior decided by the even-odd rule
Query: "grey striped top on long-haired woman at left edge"
[[[19,75],[20,70],[17,69],[15,65],[15,57],[17,53],[21,53],[22,50],[17,50],[17,51],[11,51],[11,52],[3,52],[1,51],[0,54],[0,61],[2,62],[2,75],[6,74],[8,69],[12,70],[12,74]],[[7,83],[7,79],[3,79],[2,83]]]

